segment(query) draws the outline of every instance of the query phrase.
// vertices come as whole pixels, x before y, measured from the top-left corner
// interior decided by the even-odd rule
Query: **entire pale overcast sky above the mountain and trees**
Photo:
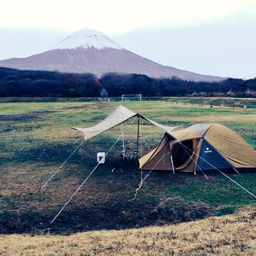
[[[163,65],[256,77],[256,0],[3,1],[0,60],[43,52],[84,28]]]

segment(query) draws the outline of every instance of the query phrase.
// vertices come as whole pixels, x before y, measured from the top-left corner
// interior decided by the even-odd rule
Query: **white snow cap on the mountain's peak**
[[[93,29],[83,29],[61,40],[61,42],[54,45],[49,50],[77,49],[77,48],[87,49],[92,47],[100,50],[104,48],[112,48],[112,49],[120,49],[120,50],[123,49],[120,45],[111,41],[103,33]]]

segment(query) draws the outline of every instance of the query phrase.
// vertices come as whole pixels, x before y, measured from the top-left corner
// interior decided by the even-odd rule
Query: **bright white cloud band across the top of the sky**
[[[1,28],[120,33],[158,26],[186,26],[235,13],[255,15],[254,0],[8,0],[1,3]]]

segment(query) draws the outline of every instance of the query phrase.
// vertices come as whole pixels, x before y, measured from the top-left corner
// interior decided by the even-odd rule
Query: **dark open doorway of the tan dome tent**
[[[182,144],[182,145],[181,145]],[[182,166],[193,153],[193,140],[175,143],[172,147],[173,164],[175,168]]]

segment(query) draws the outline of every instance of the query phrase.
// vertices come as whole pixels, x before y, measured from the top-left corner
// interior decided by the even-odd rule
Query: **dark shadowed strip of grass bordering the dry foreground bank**
[[[87,206],[70,204],[50,225],[54,213],[56,212],[2,212],[0,232],[72,234],[88,230],[139,228],[198,220],[210,216],[211,209],[206,204],[188,203],[180,198],[168,198],[151,205],[119,199]]]

